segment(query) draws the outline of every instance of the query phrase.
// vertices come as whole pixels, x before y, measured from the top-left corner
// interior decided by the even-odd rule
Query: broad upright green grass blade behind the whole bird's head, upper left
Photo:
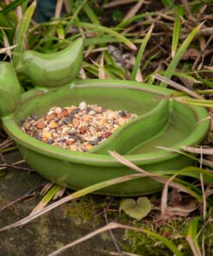
[[[22,20],[16,30],[15,44],[17,44],[17,47],[14,50],[15,55],[13,59],[15,67],[18,64],[20,57],[18,54],[22,54],[24,50],[24,40],[26,39],[29,23],[32,19],[32,16],[34,15],[35,6],[36,2],[34,1],[24,13]]]

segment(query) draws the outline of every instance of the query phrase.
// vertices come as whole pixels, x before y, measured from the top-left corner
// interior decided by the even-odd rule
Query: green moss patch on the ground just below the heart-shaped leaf
[[[147,229],[163,235],[174,245],[178,246],[185,255],[191,255],[191,249],[185,240],[186,222],[184,219],[177,219],[169,223],[164,223],[161,227],[153,221],[132,221],[131,226]],[[127,230],[123,235],[123,242],[120,243],[122,249],[129,253],[136,253],[146,256],[170,255],[171,252],[159,240],[142,234]]]

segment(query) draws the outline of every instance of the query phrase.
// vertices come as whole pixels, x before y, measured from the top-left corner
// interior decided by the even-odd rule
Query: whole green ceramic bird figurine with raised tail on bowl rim
[[[25,51],[20,58],[17,72],[25,74],[39,87],[56,87],[76,78],[83,61],[84,40],[78,38],[67,48],[53,54]]]

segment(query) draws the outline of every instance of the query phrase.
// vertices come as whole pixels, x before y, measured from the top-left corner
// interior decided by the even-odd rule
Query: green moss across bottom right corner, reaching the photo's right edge
[[[210,214],[209,214],[210,215]],[[185,220],[185,218],[178,218],[170,222],[158,223],[154,220],[149,221],[131,221],[128,222],[129,226],[139,227],[153,231],[157,234],[161,234],[181,250],[184,255],[192,255],[191,248],[186,241],[187,227],[191,218]],[[201,230],[200,234],[199,231]],[[197,229],[198,244],[201,248],[204,242],[205,255],[213,255],[213,224],[211,221],[207,221],[206,224],[200,223]],[[135,253],[146,256],[159,256],[159,255],[171,255],[171,252],[167,247],[156,240],[155,238],[127,230],[124,232],[122,241],[119,240],[119,245],[125,252]]]

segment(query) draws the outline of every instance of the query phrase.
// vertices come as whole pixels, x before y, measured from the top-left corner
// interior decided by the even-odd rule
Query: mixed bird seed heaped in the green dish
[[[102,106],[53,106],[46,115],[35,114],[22,119],[22,131],[44,143],[67,150],[91,150],[116,131],[118,127],[136,118],[127,111],[112,111]]]

